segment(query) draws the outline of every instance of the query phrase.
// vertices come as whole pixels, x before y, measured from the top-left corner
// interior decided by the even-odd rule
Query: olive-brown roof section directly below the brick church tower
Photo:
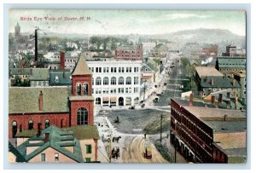
[[[100,138],[96,125],[79,125],[63,128],[63,130],[73,131],[73,136],[79,140]]]

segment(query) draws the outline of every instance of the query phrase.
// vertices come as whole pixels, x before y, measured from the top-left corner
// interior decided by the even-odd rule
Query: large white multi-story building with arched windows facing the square
[[[96,105],[134,106],[139,103],[142,61],[87,61]]]

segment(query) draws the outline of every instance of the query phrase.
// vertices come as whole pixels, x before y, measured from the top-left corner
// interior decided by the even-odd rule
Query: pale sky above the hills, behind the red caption
[[[20,32],[32,32],[38,26],[46,33],[150,35],[207,28],[246,36],[246,13],[234,10],[9,9],[9,32],[15,32],[17,22]]]

